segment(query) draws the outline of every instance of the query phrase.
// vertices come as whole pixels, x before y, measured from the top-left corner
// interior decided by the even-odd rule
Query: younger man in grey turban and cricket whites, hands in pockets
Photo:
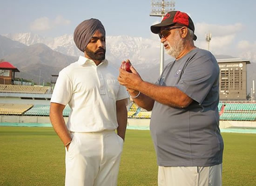
[[[116,186],[127,125],[127,91],[105,60],[101,21],[81,22],[74,42],[84,52],[59,73],[50,119],[66,147],[66,186]],[[62,116],[71,108],[67,126]],[[117,134],[115,133],[117,129]]]

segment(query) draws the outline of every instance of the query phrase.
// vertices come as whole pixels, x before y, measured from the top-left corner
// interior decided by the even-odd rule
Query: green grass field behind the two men
[[[222,185],[256,186],[256,134],[222,136]],[[64,152],[53,128],[1,126],[0,186],[64,186]],[[127,131],[118,186],[157,186],[149,131]]]

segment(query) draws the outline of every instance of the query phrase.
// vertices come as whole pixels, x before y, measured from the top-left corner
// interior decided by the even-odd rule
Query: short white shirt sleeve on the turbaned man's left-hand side
[[[54,86],[51,103],[67,105],[72,96],[72,83],[66,73],[60,72]]]

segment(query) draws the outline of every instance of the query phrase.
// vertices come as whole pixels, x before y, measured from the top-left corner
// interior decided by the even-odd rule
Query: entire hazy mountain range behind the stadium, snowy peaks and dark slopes
[[[159,76],[160,42],[129,36],[107,36],[106,58],[118,68],[122,60],[131,60],[142,79],[155,82]],[[45,38],[33,33],[0,35],[0,59],[18,67],[15,77],[33,79],[36,83],[50,82],[52,74],[73,63],[83,53],[74,44],[73,36],[65,34],[56,38]],[[228,55],[215,55],[217,59],[232,58]],[[248,53],[248,60],[256,59]],[[165,55],[165,64],[172,59]],[[256,63],[248,66],[248,93],[251,80],[256,80]]]

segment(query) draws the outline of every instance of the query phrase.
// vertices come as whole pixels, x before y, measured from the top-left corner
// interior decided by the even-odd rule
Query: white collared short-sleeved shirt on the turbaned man
[[[98,132],[118,127],[116,101],[129,97],[126,88],[119,84],[118,75],[108,60],[96,66],[83,56],[61,70],[51,102],[70,106],[69,131]]]

